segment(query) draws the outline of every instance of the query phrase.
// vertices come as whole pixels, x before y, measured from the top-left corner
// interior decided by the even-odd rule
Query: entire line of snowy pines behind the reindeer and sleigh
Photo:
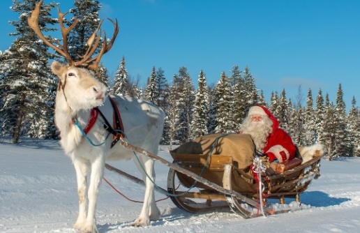
[[[57,77],[49,61],[63,58],[39,43],[36,33],[27,24],[27,17],[36,1],[13,1],[10,8],[18,13],[17,20],[9,21],[15,27],[12,45],[0,52],[0,121],[2,137],[10,136],[13,143],[20,137],[59,139],[54,125],[54,98],[57,93]],[[58,20],[50,14],[55,3],[43,4],[39,25],[43,31],[57,31]],[[98,27],[98,1],[74,1],[70,10],[80,19],[68,35],[70,54],[84,54],[87,39]],[[66,24],[70,26],[74,17]],[[48,36],[49,40],[55,40]],[[185,66],[172,76],[169,82],[162,68],[153,67],[144,88],[140,76],[131,77],[126,70],[126,59],[119,60],[119,68],[110,77],[107,68],[100,64],[100,77],[116,95],[142,98],[162,108],[166,114],[161,144],[183,144],[200,135],[210,133],[237,133],[246,112],[253,105],[269,107],[285,129],[300,146],[315,143],[326,145],[329,158],[337,156],[360,156],[359,107],[353,98],[350,112],[345,111],[343,90],[338,85],[336,101],[329,100],[328,93],[317,90],[314,95],[308,89],[306,105],[297,100],[292,103],[285,89],[271,93],[270,102],[257,89],[250,68],[232,66],[229,73],[221,73],[218,82],[209,87],[205,70],[200,70],[195,89],[193,77]],[[301,95],[301,87],[299,87]]]

